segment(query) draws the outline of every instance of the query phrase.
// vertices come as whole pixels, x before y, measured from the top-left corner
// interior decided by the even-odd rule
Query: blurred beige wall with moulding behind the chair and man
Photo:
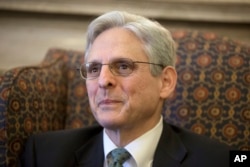
[[[89,22],[111,10],[250,44],[250,0],[0,0],[0,71],[36,65],[52,47],[83,51]]]

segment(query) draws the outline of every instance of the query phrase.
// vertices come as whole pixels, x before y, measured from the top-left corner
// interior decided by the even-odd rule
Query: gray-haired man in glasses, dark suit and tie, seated
[[[163,121],[163,102],[176,86],[174,65],[174,41],[160,24],[126,12],[98,17],[88,28],[80,73],[100,126],[31,137],[23,165],[229,166],[227,146]],[[124,162],[114,160],[117,154]]]

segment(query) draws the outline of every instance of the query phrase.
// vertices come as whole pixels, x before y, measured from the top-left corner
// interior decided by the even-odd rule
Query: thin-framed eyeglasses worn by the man
[[[102,66],[108,65],[109,70],[112,72],[113,75],[126,77],[129,76],[134,70],[136,70],[137,68],[136,63],[152,64],[164,68],[164,65],[162,64],[133,61],[127,58],[119,58],[119,59],[114,59],[112,62],[108,64],[101,64],[98,62],[85,63],[80,66],[79,71],[83,79],[95,79],[99,77]]]

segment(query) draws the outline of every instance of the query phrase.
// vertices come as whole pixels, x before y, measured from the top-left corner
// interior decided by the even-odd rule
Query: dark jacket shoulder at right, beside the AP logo
[[[230,150],[234,148],[207,136],[196,134],[189,130],[171,125],[171,129],[179,136],[185,145],[187,155],[183,164],[190,163],[193,166],[229,166]],[[185,166],[185,165],[184,165]]]

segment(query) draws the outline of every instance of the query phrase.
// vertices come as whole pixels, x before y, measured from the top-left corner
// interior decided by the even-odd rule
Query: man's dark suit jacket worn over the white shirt
[[[103,167],[103,128],[34,135],[23,153],[24,167]],[[150,147],[150,146],[145,146]],[[153,167],[228,167],[229,147],[164,123]]]

